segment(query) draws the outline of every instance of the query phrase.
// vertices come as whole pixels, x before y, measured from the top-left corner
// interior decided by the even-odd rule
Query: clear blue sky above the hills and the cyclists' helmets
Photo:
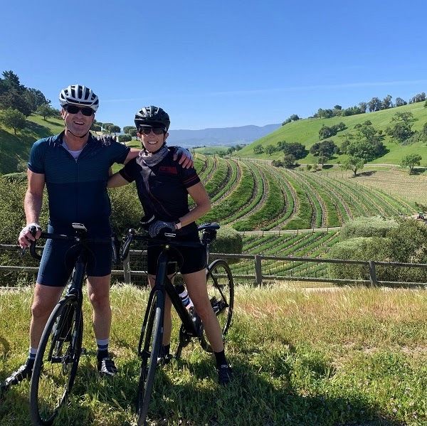
[[[427,92],[425,0],[6,1],[0,71],[53,107],[74,83],[120,127],[157,105],[171,129],[281,123]]]

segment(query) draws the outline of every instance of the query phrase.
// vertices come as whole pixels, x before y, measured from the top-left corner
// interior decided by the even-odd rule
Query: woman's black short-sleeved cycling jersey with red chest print
[[[141,157],[129,161],[120,170],[128,182],[136,181],[139,201],[148,217],[154,215],[158,220],[175,221],[189,213],[187,188],[200,182],[194,168],[184,169],[174,161],[174,153],[155,166],[147,166]],[[195,233],[196,223],[190,223],[176,232],[178,235]]]

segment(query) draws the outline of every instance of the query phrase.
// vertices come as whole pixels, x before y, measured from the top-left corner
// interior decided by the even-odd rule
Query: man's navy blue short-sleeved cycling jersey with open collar
[[[63,134],[35,142],[28,161],[28,169],[45,176],[49,223],[56,232],[78,222],[88,230],[107,233],[111,214],[108,171],[112,164],[125,161],[130,148],[116,142],[105,146],[90,134],[76,161],[62,146]]]

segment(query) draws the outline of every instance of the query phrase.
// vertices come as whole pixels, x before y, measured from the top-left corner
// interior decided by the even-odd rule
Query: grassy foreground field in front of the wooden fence
[[[83,356],[60,425],[132,425],[137,334],[147,292],[113,287],[111,349],[120,373],[95,373],[85,302]],[[0,297],[0,380],[26,357],[31,290]],[[6,320],[5,320],[6,319]],[[159,370],[149,425],[426,425],[427,292],[301,292],[240,286],[227,352],[235,379],[216,383],[199,346]],[[0,397],[0,424],[28,425],[28,383]]]

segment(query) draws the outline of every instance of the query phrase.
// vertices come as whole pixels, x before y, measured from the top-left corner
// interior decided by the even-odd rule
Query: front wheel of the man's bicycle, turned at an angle
[[[31,420],[51,425],[73,387],[82,347],[83,315],[75,296],[61,299],[38,346],[30,388]]]

